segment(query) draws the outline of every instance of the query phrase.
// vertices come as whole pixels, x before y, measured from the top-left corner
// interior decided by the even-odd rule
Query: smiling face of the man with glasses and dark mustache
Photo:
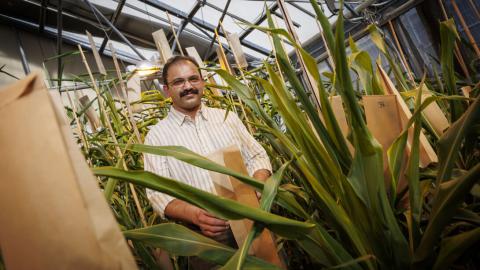
[[[200,107],[204,87],[198,68],[190,61],[179,61],[170,66],[164,90],[177,110],[192,112]]]

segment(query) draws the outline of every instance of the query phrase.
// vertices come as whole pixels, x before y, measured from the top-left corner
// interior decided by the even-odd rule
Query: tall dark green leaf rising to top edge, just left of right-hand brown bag
[[[380,263],[388,262],[395,265],[395,268],[402,269],[408,265],[408,245],[387,198],[383,177],[382,148],[365,124],[353,89],[345,53],[342,11],[343,5],[340,8],[335,32],[337,76],[335,82],[351,120],[353,145],[356,150],[348,179],[356,194],[361,194],[360,198],[367,199],[366,207],[371,221],[368,222],[369,226],[363,226],[363,228],[366,236],[375,239],[369,241],[375,256]],[[365,186],[366,189],[361,189],[361,186]],[[380,241],[383,241],[381,245]]]

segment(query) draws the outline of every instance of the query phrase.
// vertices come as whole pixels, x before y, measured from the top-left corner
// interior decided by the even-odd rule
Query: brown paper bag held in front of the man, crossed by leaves
[[[212,153],[208,155],[208,158],[227,168],[248,174],[240,150],[236,146],[227,147]],[[210,171],[210,176],[212,177],[215,190],[219,196],[236,200],[251,207],[260,207],[255,190],[252,187],[238,181],[234,177],[229,177],[224,174]],[[243,219],[230,220],[229,223],[238,246],[241,246],[248,232],[251,230],[253,222],[248,219]],[[267,229],[253,241],[249,254],[285,268],[284,263],[277,254],[277,248],[272,234]]]

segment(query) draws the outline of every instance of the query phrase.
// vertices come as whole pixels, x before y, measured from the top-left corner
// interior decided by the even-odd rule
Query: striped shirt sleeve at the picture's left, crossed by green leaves
[[[155,135],[155,130],[150,130],[145,138],[144,144],[153,146],[161,145],[156,139],[157,137],[158,136]],[[159,176],[171,178],[167,164],[167,157],[145,153],[143,155],[143,161],[145,171],[152,172]],[[146,189],[146,193],[148,200],[152,204],[153,210],[155,210],[155,212],[157,212],[161,218],[165,218],[165,207],[167,207],[167,205],[175,198],[148,188]]]

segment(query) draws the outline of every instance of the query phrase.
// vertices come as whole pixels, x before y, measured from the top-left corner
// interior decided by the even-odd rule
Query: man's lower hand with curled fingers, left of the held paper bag
[[[228,222],[215,217],[207,211],[197,208],[192,223],[200,227],[202,233],[209,237],[219,236],[229,229]]]

